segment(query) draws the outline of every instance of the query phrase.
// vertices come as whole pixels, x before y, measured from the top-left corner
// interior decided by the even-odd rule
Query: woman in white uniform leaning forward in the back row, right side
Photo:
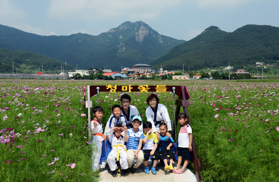
[[[146,109],[145,114],[147,121],[152,124],[152,132],[154,132],[157,138],[160,139],[159,125],[161,122],[165,122],[168,128],[166,136],[171,136],[169,132],[171,131],[171,121],[166,106],[159,104],[159,98],[156,94],[148,96],[146,101],[149,107]]]

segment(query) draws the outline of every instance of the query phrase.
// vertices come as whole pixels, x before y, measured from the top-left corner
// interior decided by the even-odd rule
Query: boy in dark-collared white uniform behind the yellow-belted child
[[[115,125],[126,125],[127,119],[126,117],[121,114],[121,106],[120,105],[113,105],[112,107],[113,115],[109,118],[106,128],[104,129],[104,135],[107,135],[107,131],[110,128],[113,128]]]

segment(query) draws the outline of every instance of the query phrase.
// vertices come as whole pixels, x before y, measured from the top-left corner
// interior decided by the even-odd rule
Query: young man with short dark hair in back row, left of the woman
[[[121,114],[126,116],[127,119],[127,125],[126,127],[128,129],[132,128],[132,119],[134,116],[140,116],[140,113],[138,113],[138,110],[136,109],[136,107],[130,105],[131,104],[131,97],[128,94],[123,94],[120,97],[120,102],[121,102]],[[139,129],[141,131],[143,131],[143,123],[142,125],[139,127]]]

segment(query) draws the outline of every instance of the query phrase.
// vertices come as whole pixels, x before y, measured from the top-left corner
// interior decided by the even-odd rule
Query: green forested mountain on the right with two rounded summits
[[[232,65],[244,68],[256,62],[279,60],[279,28],[269,25],[245,25],[232,33],[216,26],[205,29],[192,40],[172,48],[150,64],[154,68],[190,70]]]

